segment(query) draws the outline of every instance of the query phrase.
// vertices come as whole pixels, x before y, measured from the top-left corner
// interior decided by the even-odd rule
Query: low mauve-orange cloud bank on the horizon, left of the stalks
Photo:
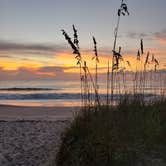
[[[79,80],[78,73],[65,73],[72,67],[41,67],[38,69],[20,67],[17,70],[0,68],[0,80]]]

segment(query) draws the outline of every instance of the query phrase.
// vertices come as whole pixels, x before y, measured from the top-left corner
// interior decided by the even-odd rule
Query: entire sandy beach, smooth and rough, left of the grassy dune
[[[55,161],[72,107],[0,106],[0,165],[47,166]]]

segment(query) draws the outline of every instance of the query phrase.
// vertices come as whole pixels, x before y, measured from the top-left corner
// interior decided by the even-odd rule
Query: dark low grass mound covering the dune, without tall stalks
[[[164,159],[165,108],[164,99],[147,104],[126,97],[110,110],[79,112],[62,137],[57,166],[134,166],[153,150]]]

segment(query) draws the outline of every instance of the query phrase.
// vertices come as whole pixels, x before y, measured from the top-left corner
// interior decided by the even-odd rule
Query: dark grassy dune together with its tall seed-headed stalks
[[[96,59],[94,79],[86,61],[81,57],[77,30],[74,25],[74,42],[62,30],[65,39],[73,49],[73,54],[77,55],[75,58],[80,66],[82,111],[76,115],[62,137],[62,144],[56,156],[57,166],[160,166],[156,163],[152,164],[153,159],[165,160],[164,163],[166,163],[166,99],[164,99],[165,86],[162,88],[161,74],[159,74],[159,80],[156,78],[159,62],[154,55],[150,61],[149,52],[147,52],[144,62],[144,45],[143,39],[141,39],[133,89],[127,88],[125,62],[130,68],[133,64],[122,56],[121,47],[119,47],[119,51],[116,48],[120,17],[129,15],[127,4],[123,0],[121,0],[117,14],[112,70],[110,75],[108,59],[107,101],[104,106],[101,106],[102,101],[98,93],[98,52],[95,38],[93,37],[93,51]],[[154,71],[148,69],[149,65],[154,66]],[[158,81],[163,93],[161,94],[163,98],[155,102],[145,102],[145,100],[150,100],[146,99],[146,94],[149,93],[147,91],[149,88],[148,71],[151,71],[151,92],[157,97],[159,96],[155,85],[155,82]],[[121,72],[122,78],[120,78]],[[153,75],[154,79],[152,79]],[[94,102],[91,100],[90,85],[95,94]],[[122,98],[117,106],[112,106],[114,92],[117,90]],[[121,90],[123,90],[122,93]],[[111,99],[109,98],[110,91]]]

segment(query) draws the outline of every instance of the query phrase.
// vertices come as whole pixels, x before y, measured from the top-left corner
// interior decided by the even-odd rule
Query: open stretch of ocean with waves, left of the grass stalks
[[[75,106],[80,104],[79,89],[79,82],[73,81],[0,81],[0,104]]]

